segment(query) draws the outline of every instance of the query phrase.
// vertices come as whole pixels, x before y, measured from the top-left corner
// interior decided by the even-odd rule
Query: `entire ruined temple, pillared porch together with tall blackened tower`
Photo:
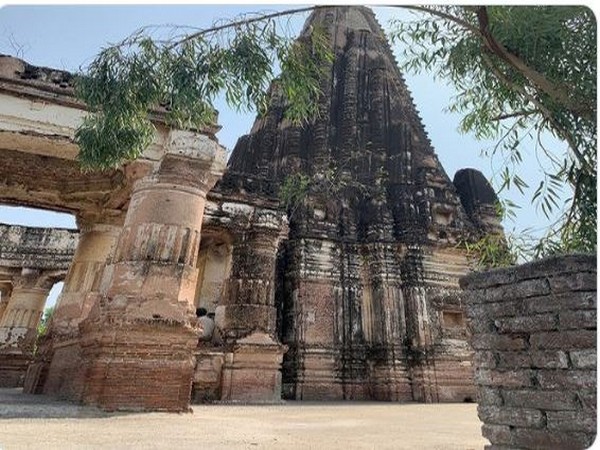
[[[474,399],[458,278],[462,243],[500,231],[495,194],[471,169],[448,178],[369,9],[319,9],[301,39],[312,25],[335,53],[320,117],[293,126],[274,90],[226,169],[215,130],[158,118],[142,158],[79,174],[68,77],[6,59],[0,200],[80,224],[26,390],[108,409]],[[67,181],[34,183],[36,164]],[[196,346],[196,306],[215,313],[218,345]]]

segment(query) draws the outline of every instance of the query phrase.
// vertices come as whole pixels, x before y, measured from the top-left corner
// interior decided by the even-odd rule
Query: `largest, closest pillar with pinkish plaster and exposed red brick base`
[[[100,299],[80,324],[84,403],[189,407],[202,216],[224,165],[208,137],[172,131],[160,165],[136,182]]]

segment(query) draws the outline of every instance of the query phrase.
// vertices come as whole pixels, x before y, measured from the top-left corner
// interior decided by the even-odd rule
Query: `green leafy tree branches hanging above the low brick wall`
[[[394,22],[392,39],[404,43],[404,68],[431,71],[458,94],[449,110],[461,129],[498,139],[492,153],[505,158],[501,189],[523,191],[519,176],[529,137],[545,179],[532,202],[559,220],[538,240],[538,255],[596,251],[596,22],[579,6],[409,7],[411,22]],[[568,144],[553,154],[542,143],[550,132]],[[561,205],[559,188],[572,197]],[[530,249],[531,250],[531,249]]]

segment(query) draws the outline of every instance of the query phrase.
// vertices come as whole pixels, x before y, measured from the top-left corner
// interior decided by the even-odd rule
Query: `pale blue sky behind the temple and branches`
[[[240,13],[280,10],[296,7],[285,5],[67,5],[67,6],[5,6],[0,9],[0,53],[18,56],[34,65],[75,71],[91,62],[98,51],[112,42],[117,42],[136,29],[149,24],[181,24],[204,28],[220,18],[231,18]],[[410,14],[399,8],[374,8],[384,29],[392,17],[410,18]],[[300,29],[306,14],[290,20],[292,31]],[[295,33],[294,33],[295,34]],[[483,149],[491,142],[480,142],[471,136],[458,133],[460,117],[444,112],[450,103],[453,91],[434,81],[430,76],[405,76],[417,109],[429,133],[433,146],[446,172],[454,173],[464,167],[474,167],[492,177],[494,164],[480,157]],[[232,149],[237,138],[247,133],[254,114],[239,114],[225,105],[217,105],[220,111],[222,130],[218,134],[221,144]],[[561,143],[551,145],[565,148]],[[536,187],[540,180],[538,163],[533,151],[525,155],[523,178]],[[528,198],[516,192],[509,195],[521,205],[515,223],[506,223],[509,230],[533,227],[540,228],[547,220],[534,211]],[[74,227],[72,216],[36,212],[22,208],[0,205],[0,222],[29,226]]]

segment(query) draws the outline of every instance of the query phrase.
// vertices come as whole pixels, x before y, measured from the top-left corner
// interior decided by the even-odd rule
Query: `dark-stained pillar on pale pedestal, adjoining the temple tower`
[[[232,254],[225,304],[216,323],[226,341],[223,401],[281,400],[281,362],[287,347],[276,338],[275,262],[281,227],[252,227],[238,236]]]

